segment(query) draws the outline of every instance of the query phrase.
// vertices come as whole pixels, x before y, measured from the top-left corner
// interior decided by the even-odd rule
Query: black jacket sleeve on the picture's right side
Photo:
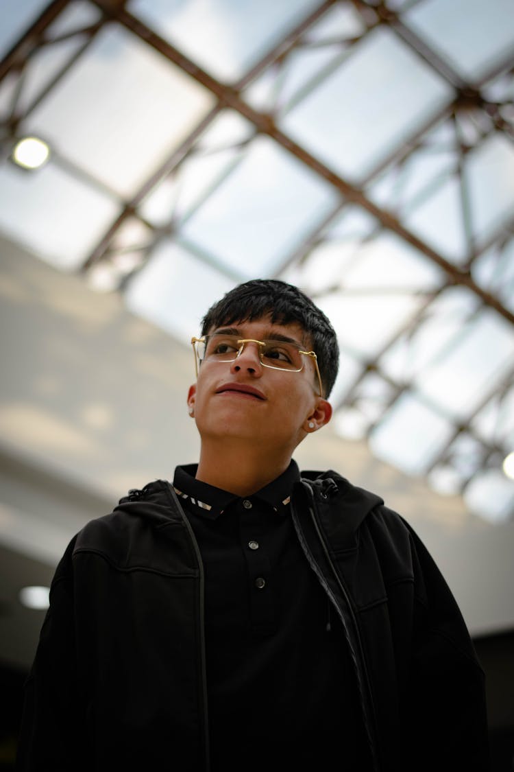
[[[489,770],[485,677],[455,598],[408,526],[415,574],[405,769]]]

